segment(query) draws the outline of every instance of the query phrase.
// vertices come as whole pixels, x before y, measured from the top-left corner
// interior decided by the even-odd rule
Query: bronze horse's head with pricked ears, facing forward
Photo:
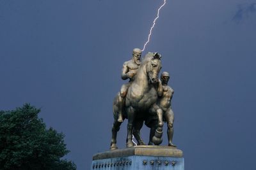
[[[148,53],[146,72],[150,83],[157,83],[158,74],[162,67],[161,55],[159,53]]]

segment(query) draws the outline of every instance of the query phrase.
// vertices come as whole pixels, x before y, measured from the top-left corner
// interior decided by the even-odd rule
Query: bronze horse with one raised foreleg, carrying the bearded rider
[[[157,113],[158,128],[154,136],[154,144],[159,145],[161,143],[161,136],[163,134],[163,115],[157,106],[157,89],[159,71],[161,69],[161,55],[158,53],[147,53],[143,59],[138,72],[135,76],[135,80],[131,83],[125,97],[125,106],[123,117],[128,119],[127,124],[127,139],[126,146],[132,147],[132,132],[138,141],[138,145],[145,145],[140,136],[140,129],[143,125],[143,121],[149,113]],[[115,150],[116,146],[116,134],[120,129],[122,122],[118,122],[118,106],[117,96],[113,103],[113,116],[114,123],[112,128],[111,150]]]

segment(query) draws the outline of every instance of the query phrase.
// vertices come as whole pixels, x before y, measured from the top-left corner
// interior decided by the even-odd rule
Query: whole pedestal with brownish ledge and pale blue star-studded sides
[[[93,155],[91,170],[184,170],[182,151],[171,146],[134,146]]]

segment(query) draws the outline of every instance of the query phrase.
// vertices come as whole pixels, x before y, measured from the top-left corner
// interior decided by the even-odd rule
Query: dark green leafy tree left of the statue
[[[47,129],[39,109],[24,104],[0,111],[0,169],[74,170],[76,165],[61,157],[69,151],[64,134]]]

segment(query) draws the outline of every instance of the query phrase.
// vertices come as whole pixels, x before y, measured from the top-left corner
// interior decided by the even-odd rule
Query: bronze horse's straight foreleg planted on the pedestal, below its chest
[[[127,138],[126,138],[126,147],[130,148],[134,146],[132,142],[132,130],[133,130],[133,122],[135,117],[135,110],[132,106],[129,106],[127,109],[127,117],[128,117],[128,124],[127,124]]]

